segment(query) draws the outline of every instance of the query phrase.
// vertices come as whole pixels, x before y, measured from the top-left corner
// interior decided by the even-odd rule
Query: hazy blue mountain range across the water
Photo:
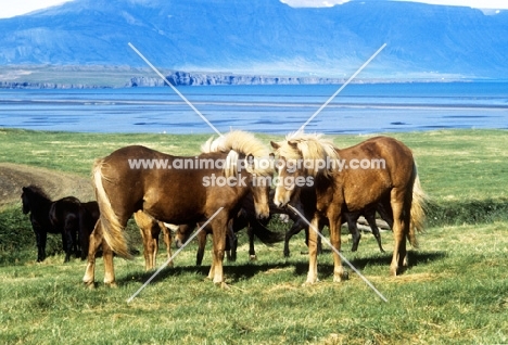
[[[75,0],[0,20],[0,65],[345,78],[508,79],[508,11],[393,1]],[[1,72],[0,72],[1,74]]]

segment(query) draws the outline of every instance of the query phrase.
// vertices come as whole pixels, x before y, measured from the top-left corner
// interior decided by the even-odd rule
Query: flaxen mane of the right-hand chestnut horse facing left
[[[313,162],[314,164],[306,164],[307,171],[312,176],[323,174],[328,176],[333,167],[336,165],[328,166],[325,169],[317,169],[317,162],[321,161],[328,163],[330,161],[339,159],[339,153],[333,144],[333,141],[322,138],[320,133],[290,133],[285,137],[284,141],[277,143],[279,148],[276,151],[280,157],[289,161]]]

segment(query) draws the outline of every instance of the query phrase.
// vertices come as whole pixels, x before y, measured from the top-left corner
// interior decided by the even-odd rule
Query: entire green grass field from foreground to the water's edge
[[[263,140],[280,139],[259,135]],[[410,268],[389,276],[385,254],[364,234],[357,253],[343,234],[343,254],[388,298],[382,302],[360,278],[332,283],[329,251],[319,257],[320,282],[301,286],[307,271],[303,235],[292,256],[282,244],[257,244],[247,260],[245,235],[239,259],[226,263],[231,290],[217,289],[195,267],[195,245],[177,256],[132,303],[126,301],[152,272],[142,255],[115,259],[117,289],[85,289],[85,264],[52,254],[35,263],[35,239],[20,205],[0,213],[0,342],[7,344],[503,344],[508,343],[508,136],[503,130],[396,133],[412,149],[429,193],[429,227],[410,252]],[[338,136],[347,146],[367,137]],[[1,162],[42,166],[88,176],[93,158],[141,143],[192,155],[207,136],[85,135],[0,130]],[[287,227],[272,222],[272,230]],[[137,229],[129,226],[134,239]],[[16,238],[18,237],[18,238]],[[139,238],[139,235],[138,235]],[[141,248],[140,242],[138,247]],[[208,244],[209,247],[209,244]],[[163,252],[163,251],[162,251]],[[164,256],[158,256],[158,263]],[[102,280],[101,259],[97,279]]]

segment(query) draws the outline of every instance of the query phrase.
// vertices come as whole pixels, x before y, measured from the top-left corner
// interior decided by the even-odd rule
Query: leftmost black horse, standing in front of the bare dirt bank
[[[79,200],[68,196],[53,202],[40,187],[34,184],[22,188],[21,199],[23,214],[30,214],[31,228],[37,243],[37,263],[46,259],[48,233],[62,235],[64,263],[67,263],[73,250],[77,252]]]

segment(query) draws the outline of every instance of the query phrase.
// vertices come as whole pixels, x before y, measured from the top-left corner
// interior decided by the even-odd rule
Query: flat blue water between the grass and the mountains
[[[508,82],[0,89],[0,128],[79,132],[382,133],[508,128]]]

